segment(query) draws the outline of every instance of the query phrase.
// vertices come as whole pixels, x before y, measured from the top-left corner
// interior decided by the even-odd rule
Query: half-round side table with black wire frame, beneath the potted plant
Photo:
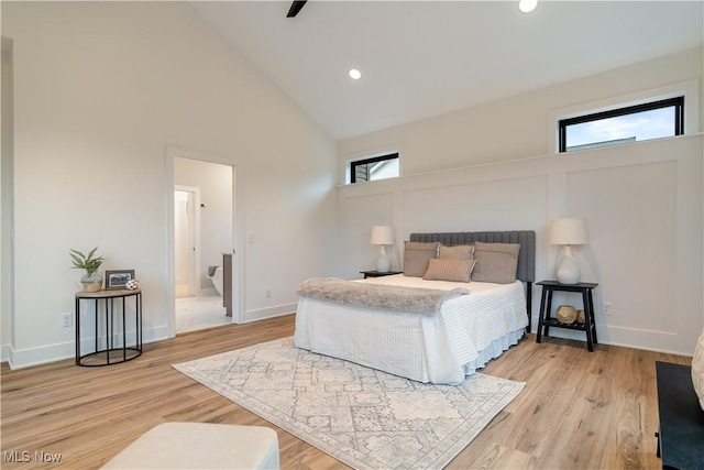
[[[134,298],[134,342],[128,346],[128,315],[127,298]],[[114,327],[114,300],[122,302],[122,318],[118,321],[118,330]],[[80,352],[80,304],[81,300],[94,300],[96,328],[95,328],[95,348],[92,352],[81,354]],[[100,300],[103,300],[105,314],[105,348],[100,346]],[[119,315],[119,314],[118,314]],[[120,318],[118,318],[120,319]],[[116,337],[117,336],[117,337]],[[122,341],[118,338],[122,337]],[[121,345],[120,345],[121,342]],[[76,293],[76,365],[82,367],[101,367],[112,365],[120,362],[131,361],[142,356],[142,289],[119,289],[119,291],[98,291],[98,292],[77,292]]]

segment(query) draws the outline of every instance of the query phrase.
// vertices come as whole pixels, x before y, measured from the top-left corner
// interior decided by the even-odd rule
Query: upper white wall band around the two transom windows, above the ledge
[[[548,128],[556,128],[548,121],[556,110],[690,80],[698,80],[698,97],[685,107],[704,117],[703,57],[704,48],[697,47],[339,141],[338,183],[344,183],[345,161],[387,150],[400,150],[404,175],[551,154]],[[703,131],[702,125],[700,119],[693,131]]]

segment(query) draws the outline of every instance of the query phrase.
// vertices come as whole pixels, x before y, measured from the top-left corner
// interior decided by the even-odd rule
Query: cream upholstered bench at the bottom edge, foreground
[[[103,469],[278,469],[276,431],[261,426],[164,423]]]

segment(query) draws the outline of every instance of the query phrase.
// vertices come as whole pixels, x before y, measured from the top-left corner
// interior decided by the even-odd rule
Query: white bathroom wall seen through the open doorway
[[[222,253],[232,253],[232,166],[176,157],[174,183],[200,189],[199,288],[212,288],[208,266],[222,266]]]

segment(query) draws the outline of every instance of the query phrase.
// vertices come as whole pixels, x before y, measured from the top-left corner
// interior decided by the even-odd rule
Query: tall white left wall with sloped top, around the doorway
[[[333,140],[188,3],[1,8],[14,41],[16,263],[3,359],[73,356],[59,321],[80,287],[69,248],[99,245],[103,269],[134,269],[144,339],[167,336],[167,145],[241,171],[241,217],[256,234],[243,253],[245,320],[293,311],[304,278],[334,274]]]

